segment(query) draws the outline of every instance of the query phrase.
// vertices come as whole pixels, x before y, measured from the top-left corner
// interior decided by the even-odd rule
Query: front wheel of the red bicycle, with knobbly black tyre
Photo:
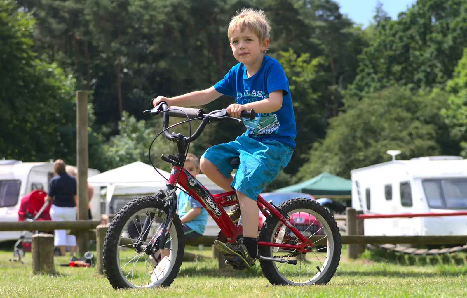
[[[143,245],[155,241],[161,234],[168,215],[167,210],[162,211],[164,205],[158,197],[137,198],[123,206],[110,223],[103,255],[104,270],[114,289],[164,287],[177,277],[185,247],[183,227],[177,214],[165,249],[155,254],[161,255],[160,259],[133,247],[141,234],[144,234]],[[145,222],[150,224],[143,231]]]

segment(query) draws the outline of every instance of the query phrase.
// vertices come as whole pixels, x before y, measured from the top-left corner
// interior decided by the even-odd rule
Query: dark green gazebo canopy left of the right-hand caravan
[[[352,182],[324,172],[309,180],[277,189],[274,192],[303,192],[319,197],[350,197]]]

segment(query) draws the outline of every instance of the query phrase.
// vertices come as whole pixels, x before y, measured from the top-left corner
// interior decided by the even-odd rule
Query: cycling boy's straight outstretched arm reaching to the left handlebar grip
[[[214,86],[212,86],[205,90],[190,92],[171,98],[158,96],[156,99],[153,99],[152,104],[156,106],[160,101],[165,101],[168,106],[203,106],[219,98],[221,95],[222,93],[217,92]]]

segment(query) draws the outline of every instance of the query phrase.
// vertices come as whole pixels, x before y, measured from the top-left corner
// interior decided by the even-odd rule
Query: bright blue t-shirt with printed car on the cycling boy
[[[274,58],[264,55],[261,68],[250,78],[247,69],[239,63],[232,67],[214,88],[217,92],[235,96],[238,104],[244,105],[269,98],[269,93],[282,90],[282,107],[267,114],[256,114],[253,121],[243,118],[249,137],[258,141],[276,140],[295,149],[297,129],[290,97],[289,80],[282,65]]]

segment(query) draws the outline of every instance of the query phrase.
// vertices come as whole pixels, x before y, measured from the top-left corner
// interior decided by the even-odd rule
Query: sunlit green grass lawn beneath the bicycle
[[[200,253],[198,248],[188,251]],[[211,249],[201,252],[211,255]],[[466,297],[466,265],[403,266],[360,259],[348,261],[342,251],[340,266],[324,286],[272,286],[255,270],[217,272],[217,260],[184,262],[170,288],[115,291],[96,268],[60,267],[66,257],[55,257],[56,276],[34,276],[31,254],[24,264],[8,261],[11,251],[0,251],[0,297]]]

